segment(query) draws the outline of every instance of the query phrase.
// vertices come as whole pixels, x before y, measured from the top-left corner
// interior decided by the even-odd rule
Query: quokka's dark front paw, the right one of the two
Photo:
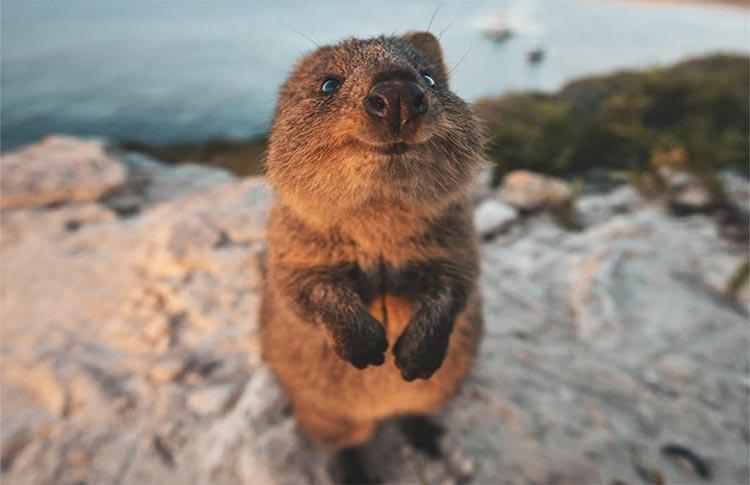
[[[412,321],[393,346],[396,367],[405,381],[429,379],[443,364],[450,332],[442,325]]]

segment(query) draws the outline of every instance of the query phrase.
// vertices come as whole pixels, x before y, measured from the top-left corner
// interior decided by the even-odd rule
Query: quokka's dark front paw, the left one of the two
[[[382,365],[388,340],[380,322],[369,313],[363,312],[357,318],[331,328],[333,348],[343,360],[357,369],[368,365]]]

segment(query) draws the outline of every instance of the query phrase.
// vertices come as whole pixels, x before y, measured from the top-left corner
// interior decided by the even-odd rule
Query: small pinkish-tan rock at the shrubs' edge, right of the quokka
[[[514,170],[503,178],[497,196],[518,210],[533,211],[570,201],[572,191],[564,180],[527,170]]]

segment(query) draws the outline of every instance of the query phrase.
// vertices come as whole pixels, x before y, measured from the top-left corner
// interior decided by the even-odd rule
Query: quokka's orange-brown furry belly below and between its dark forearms
[[[478,301],[471,299],[456,320],[440,369],[430,379],[407,382],[396,367],[392,347],[411,317],[410,302],[386,295],[369,305],[372,315],[384,322],[389,347],[383,365],[364,370],[341,360],[320,327],[274,308],[272,302],[266,305],[265,357],[292,404],[323,408],[355,421],[439,411],[468,374],[482,330]]]

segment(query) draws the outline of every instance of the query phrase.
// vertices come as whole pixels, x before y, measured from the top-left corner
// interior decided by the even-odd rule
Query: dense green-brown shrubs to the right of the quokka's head
[[[749,67],[748,57],[713,55],[581,79],[553,95],[481,100],[495,182],[520,168],[637,176],[667,163],[708,176],[747,173]]]

